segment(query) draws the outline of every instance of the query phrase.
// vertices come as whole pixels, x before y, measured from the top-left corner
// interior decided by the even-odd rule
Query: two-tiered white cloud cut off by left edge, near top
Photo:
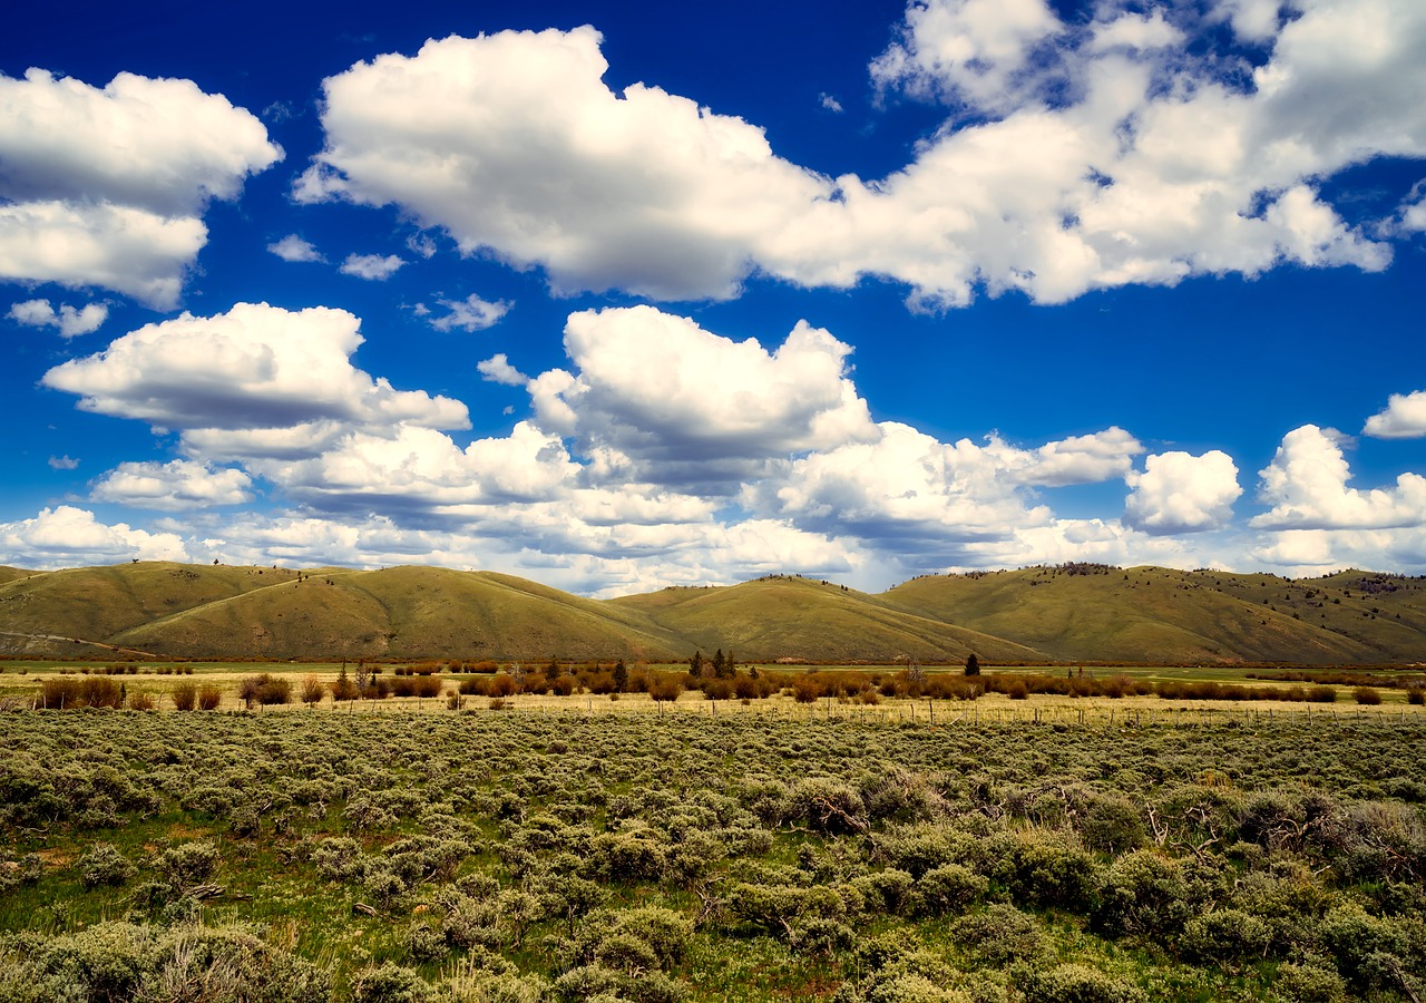
[[[0,278],[171,307],[204,205],[281,156],[252,114],[188,80],[0,74]]]

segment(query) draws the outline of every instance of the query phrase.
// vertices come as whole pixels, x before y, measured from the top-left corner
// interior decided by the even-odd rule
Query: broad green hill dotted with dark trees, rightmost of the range
[[[884,598],[925,616],[1015,638],[1061,659],[1343,665],[1426,658],[1426,589],[1410,579],[1390,581],[1402,586],[1390,594],[1405,609],[1400,621],[1382,619],[1383,613],[1370,621],[1369,606],[1387,605],[1380,596],[1338,605],[1328,598],[1319,608],[1320,598],[1309,599],[1323,591],[1316,582],[1164,568],[927,576]]]

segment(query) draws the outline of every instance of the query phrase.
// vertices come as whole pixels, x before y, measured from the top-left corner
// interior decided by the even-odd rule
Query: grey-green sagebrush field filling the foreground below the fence
[[[1095,721],[11,709],[0,1000],[1422,997],[1419,715]]]

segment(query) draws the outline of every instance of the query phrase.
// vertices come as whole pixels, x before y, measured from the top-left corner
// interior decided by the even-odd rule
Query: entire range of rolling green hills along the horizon
[[[61,638],[61,639],[57,639]],[[1426,579],[1064,565],[880,595],[799,575],[585,599],[512,575],[134,562],[0,568],[0,655],[106,658],[1426,662]]]

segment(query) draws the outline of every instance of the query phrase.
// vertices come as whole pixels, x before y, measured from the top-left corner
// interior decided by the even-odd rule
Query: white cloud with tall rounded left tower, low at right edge
[[[1426,478],[1402,474],[1395,489],[1349,488],[1352,472],[1340,437],[1316,425],[1288,432],[1259,477],[1259,498],[1272,505],[1251,522],[1262,529],[1386,529],[1426,524]]]

